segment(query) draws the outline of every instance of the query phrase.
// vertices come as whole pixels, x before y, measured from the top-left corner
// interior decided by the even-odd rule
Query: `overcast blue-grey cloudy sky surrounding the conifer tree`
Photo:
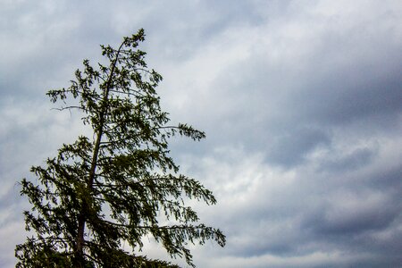
[[[17,182],[88,131],[46,91],[140,28],[163,110],[206,132],[171,147],[218,200],[194,204],[201,222],[227,236],[191,247],[197,267],[402,265],[400,0],[0,6],[1,267],[27,236]]]

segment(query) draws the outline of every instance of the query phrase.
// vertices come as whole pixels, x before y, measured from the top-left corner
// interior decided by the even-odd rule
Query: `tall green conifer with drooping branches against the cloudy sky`
[[[168,125],[155,91],[162,77],[138,49],[144,37],[140,29],[117,49],[101,46],[108,65],[84,60],[70,88],[47,93],[53,103],[63,101],[60,110],[80,111],[93,135],[64,144],[45,167],[32,167],[38,184],[21,180],[21,195],[32,205],[24,212],[26,229],[34,236],[17,245],[17,267],[177,267],[133,253],[149,235],[192,266],[188,242],[224,246],[222,231],[198,223],[185,205],[188,198],[215,204],[214,195],[180,174],[169,155],[173,136],[199,140],[205,133]]]

